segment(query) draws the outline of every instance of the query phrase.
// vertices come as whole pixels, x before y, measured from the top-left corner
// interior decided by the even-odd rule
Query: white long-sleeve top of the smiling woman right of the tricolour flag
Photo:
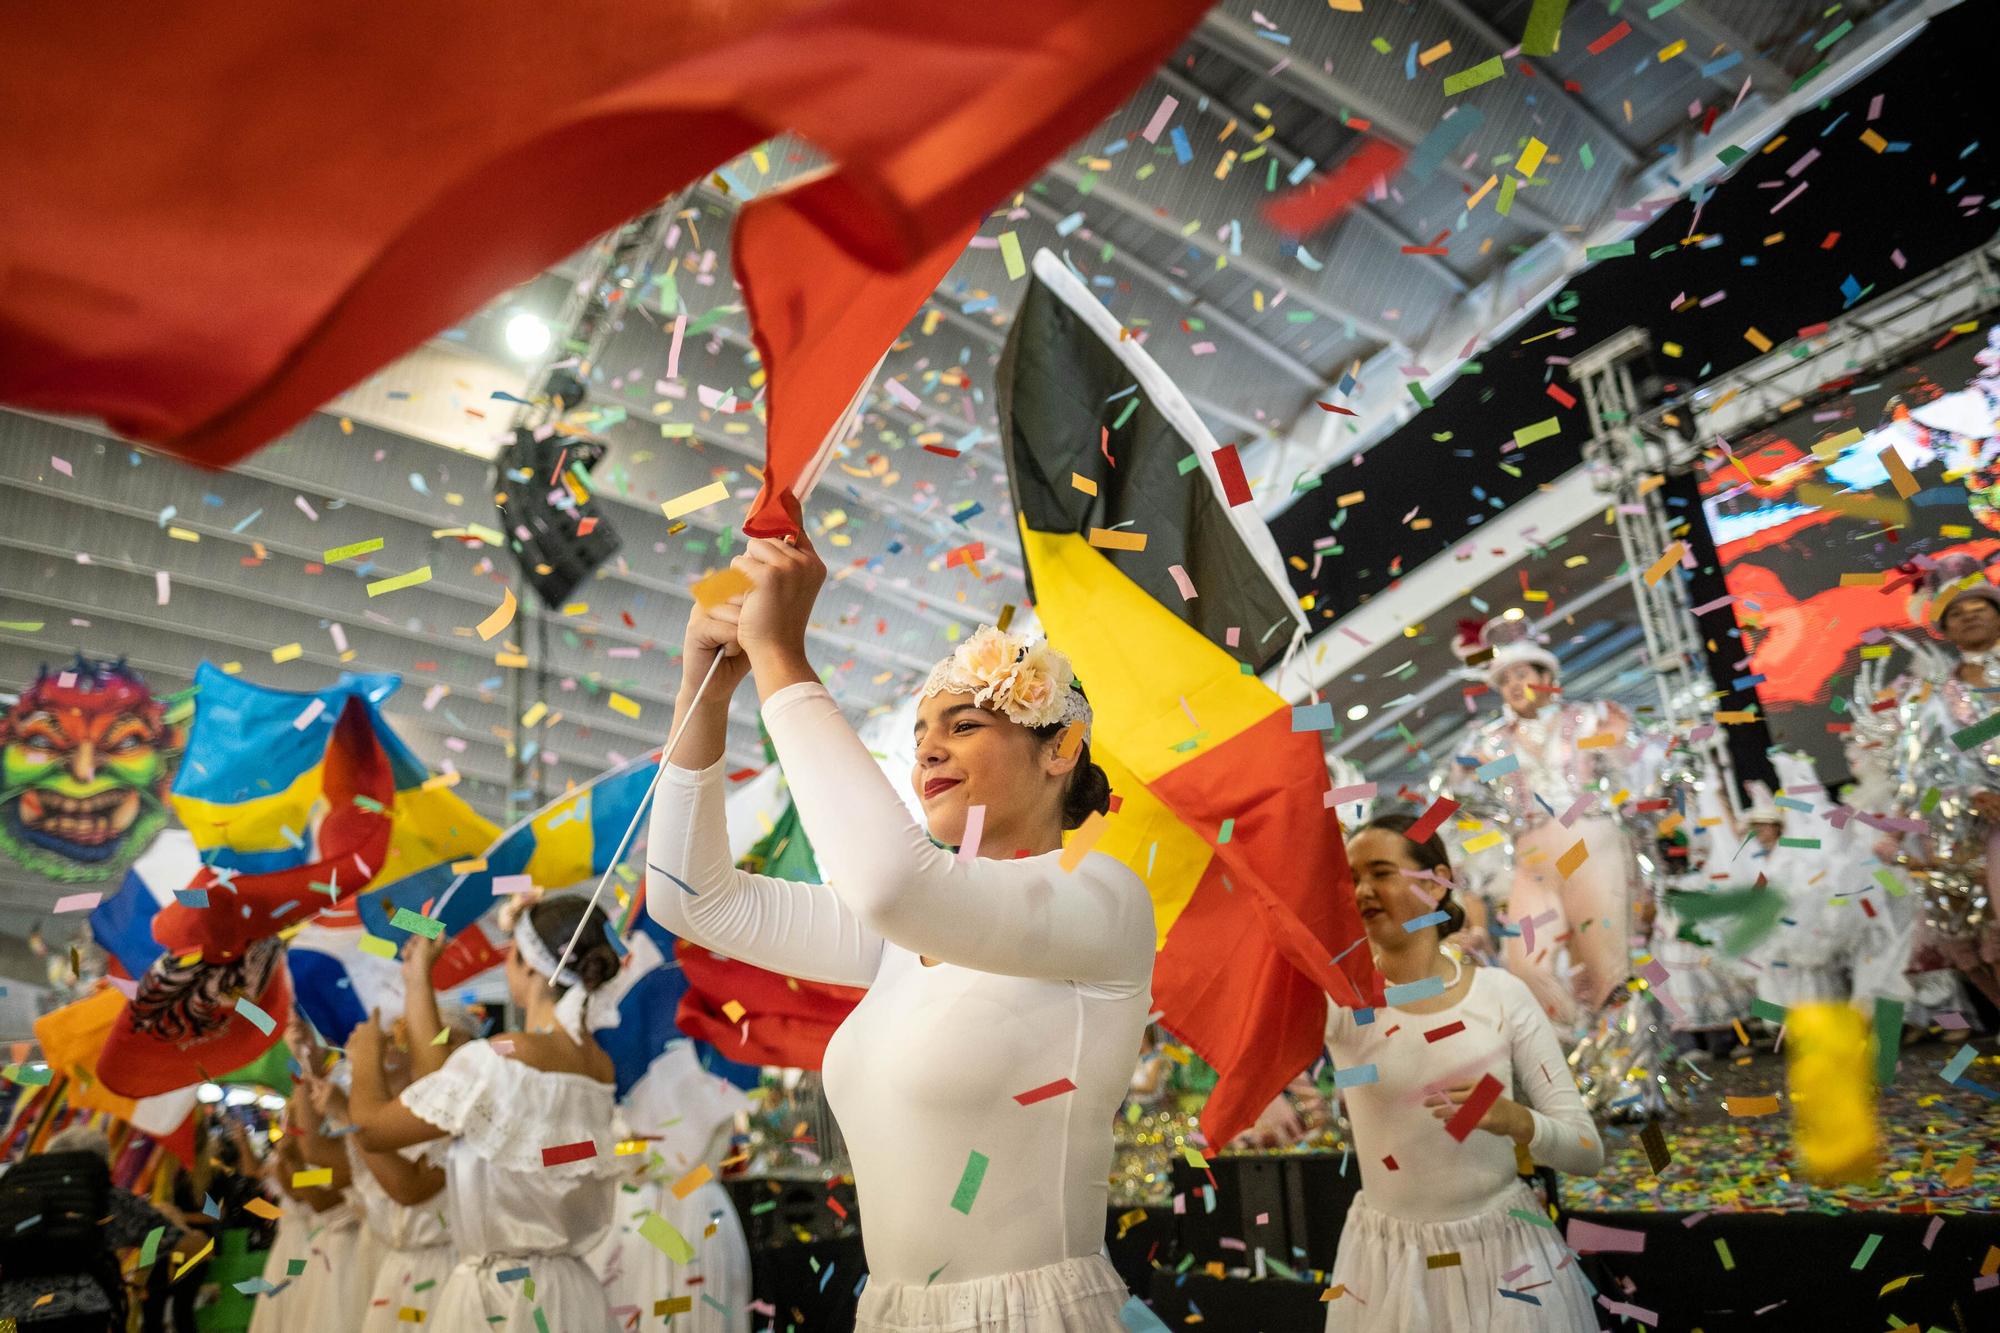
[[[1356,1011],[1328,1005],[1326,1049],[1340,1071],[1358,1075],[1362,1065],[1374,1065],[1374,1083],[1350,1083],[1342,1095],[1362,1189],[1380,1213],[1456,1221],[1492,1209],[1514,1187],[1512,1139],[1474,1129],[1458,1143],[1424,1105],[1428,1095],[1476,1085],[1482,1075],[1500,1081],[1502,1097],[1528,1107],[1536,1163],[1570,1175],[1604,1167],[1604,1143],[1576,1093],[1556,1029],[1512,973],[1476,969],[1472,989],[1436,1013],[1384,1007],[1370,1023],[1356,1019]],[[1464,1029],[1426,1037],[1454,1023]]]

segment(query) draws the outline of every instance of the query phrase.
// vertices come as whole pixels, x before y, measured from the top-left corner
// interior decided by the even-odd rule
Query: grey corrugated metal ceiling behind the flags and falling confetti
[[[1468,312],[1486,328],[1512,316],[1508,284],[1518,284],[1522,254],[1554,262],[1544,250],[1556,236],[1562,262],[1580,262],[1580,238],[1618,224],[1620,208],[1672,194],[1654,164],[1688,146],[1706,106],[1774,104],[1824,58],[1814,42],[1836,24],[1914,26],[1936,4],[1572,4],[1558,54],[1510,60],[1504,78],[1458,96],[1444,94],[1444,76],[1510,48],[1526,0],[1346,8],[1220,4],[1124,108],[1016,198],[998,200],[892,348],[842,468],[808,504],[838,580],[822,598],[814,650],[836,673],[850,715],[886,707],[954,634],[1022,596],[992,380],[1022,286],[1006,272],[1002,232],[1024,252],[1062,252],[1220,440],[1266,442],[1246,456],[1264,458],[1252,482],[1260,504],[1276,508],[1294,476],[1316,474],[1362,438],[1320,430],[1314,400],[1342,376],[1400,384],[1412,366],[1442,370],[1446,360],[1424,364],[1436,358],[1440,328],[1456,334]],[[1618,24],[1630,34],[1592,56],[1588,44]],[[1176,102],[1168,130],[1146,140],[1166,98]],[[1330,170],[1356,148],[1358,124],[1410,146],[1446,112],[1468,108],[1482,126],[1428,180],[1398,174],[1302,246],[1262,222],[1262,204],[1294,176]],[[1502,216],[1490,198],[1468,210],[1468,196],[1512,164],[1528,136],[1544,140],[1550,158],[1512,212]],[[550,616],[546,683],[528,695],[546,695],[558,715],[528,735],[544,791],[664,735],[676,681],[666,646],[680,638],[684,588],[728,554],[740,508],[720,504],[668,532],[658,502],[718,476],[746,498],[756,486],[748,466],[762,454],[760,376],[730,280],[730,214],[812,166],[808,148],[776,140],[682,196],[658,266],[672,268],[676,304],[662,308],[658,286],[638,292],[592,366],[592,402],[612,442],[596,480],[626,546],[578,590],[586,608]],[[1444,252],[1404,252],[1432,242]],[[1554,272],[1548,262],[1538,280]],[[184,685],[204,656],[298,687],[340,669],[396,671],[410,683],[390,709],[398,727],[430,763],[464,773],[474,805],[498,817],[514,783],[512,685],[492,662],[500,640],[486,644],[470,626],[500,600],[494,562],[506,556],[432,530],[492,522],[482,456],[510,418],[510,404],[492,394],[522,392],[528,372],[502,328],[522,310],[552,318],[578,272],[576,260],[558,264],[440,330],[228,474],[130,450],[76,422],[0,414],[0,600],[6,620],[46,622],[38,632],[0,630],[0,689],[76,648],[126,654],[160,689]],[[668,374],[676,312],[700,332],[682,338]],[[732,404],[750,410],[722,410]],[[1366,418],[1362,428],[1372,428]],[[948,458],[926,444],[960,452]],[[968,502],[982,512],[966,516]],[[162,516],[168,506],[172,518]],[[428,562],[432,582],[370,600],[350,568],[316,568],[326,548],[368,536],[386,538],[374,556],[384,570]],[[986,542],[978,572],[948,568],[944,552],[970,540]],[[162,570],[172,586],[164,606]],[[506,634],[524,636],[526,620]],[[272,662],[270,648],[290,642],[304,654]],[[448,693],[424,709],[432,685]],[[640,719],[612,713],[608,689],[636,699]],[[758,759],[748,703],[738,705],[730,755]],[[8,887],[4,873],[0,901],[46,899]]]

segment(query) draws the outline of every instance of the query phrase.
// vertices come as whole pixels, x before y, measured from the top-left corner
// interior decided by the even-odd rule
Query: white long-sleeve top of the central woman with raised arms
[[[1100,853],[1074,871],[1060,853],[958,861],[818,685],[764,701],[764,727],[828,883],[738,871],[722,763],[668,767],[646,909],[746,963],[868,987],[824,1073],[870,1273],[950,1283],[1100,1253],[1112,1115],[1152,1003],[1144,885]],[[1062,1079],[1076,1091],[1016,1101]]]

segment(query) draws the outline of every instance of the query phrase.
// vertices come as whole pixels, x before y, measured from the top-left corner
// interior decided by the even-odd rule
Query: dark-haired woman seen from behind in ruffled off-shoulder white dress
[[[584,925],[568,967],[558,957]],[[436,1291],[438,1333],[610,1329],[610,1305],[584,1263],[612,1225],[618,1177],[612,1061],[590,1039],[584,1005],[618,971],[604,913],[576,897],[536,903],[514,921],[508,993],[526,1031],[472,1041],[390,1097],[382,1029],[348,1037],[350,1105],[360,1147],[430,1143],[444,1167],[444,1211],[458,1267]],[[528,1281],[532,1279],[532,1297]]]

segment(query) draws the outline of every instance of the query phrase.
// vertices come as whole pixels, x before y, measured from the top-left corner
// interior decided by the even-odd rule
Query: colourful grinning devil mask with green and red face
[[[44,666],[0,717],[0,851],[68,883],[122,875],[166,823],[180,747],[124,662]]]

